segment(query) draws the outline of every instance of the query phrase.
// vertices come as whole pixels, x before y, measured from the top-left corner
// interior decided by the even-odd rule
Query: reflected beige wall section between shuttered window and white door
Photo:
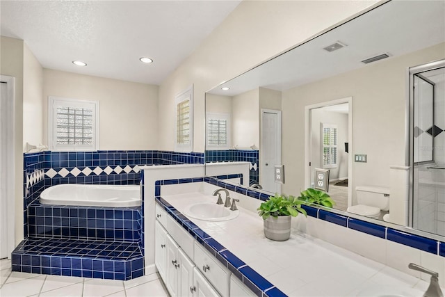
[[[232,146],[259,147],[259,88],[232,99]]]

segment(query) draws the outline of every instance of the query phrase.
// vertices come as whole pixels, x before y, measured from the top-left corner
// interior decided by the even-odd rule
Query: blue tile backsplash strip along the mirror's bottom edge
[[[232,184],[227,184],[213,177],[204,177],[204,182],[234,191],[232,189],[233,188]],[[244,188],[243,186],[236,186],[235,191],[236,193],[248,195],[252,198],[256,198],[262,201],[267,200],[269,196],[267,194],[260,193],[259,198],[257,198],[258,195],[252,193],[252,191],[255,192],[254,189]],[[394,230],[390,227],[383,227],[381,225],[369,223],[364,220],[359,220],[357,218],[350,218],[348,216],[344,216],[341,214],[335,214],[334,212],[318,209],[316,207],[305,205],[303,206],[303,208],[307,211],[308,216],[312,216],[320,220],[326,220],[327,222],[341,225],[343,227],[348,227],[349,229],[352,230],[363,232],[372,236],[377,236],[382,239],[394,241],[396,243],[401,243],[405,246],[410,246],[418,250],[431,252],[432,254],[445,257],[445,242],[439,242],[439,250],[438,250],[437,248],[438,241],[435,241],[433,239],[428,239],[423,236],[410,234],[408,232]]]

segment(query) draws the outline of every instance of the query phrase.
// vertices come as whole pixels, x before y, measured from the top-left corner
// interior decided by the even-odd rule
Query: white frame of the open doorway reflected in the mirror
[[[311,152],[311,111],[312,109],[319,109],[321,107],[345,104],[349,106],[348,112],[348,207],[353,202],[353,97],[345,97],[327,102],[321,102],[317,104],[311,104],[305,106],[305,188],[311,186],[311,166],[309,162],[312,159]]]

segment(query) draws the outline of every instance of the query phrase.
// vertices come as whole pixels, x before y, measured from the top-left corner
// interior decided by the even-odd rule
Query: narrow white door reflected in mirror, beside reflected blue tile
[[[281,111],[262,109],[261,114],[259,184],[265,191],[281,193],[281,184],[274,178],[274,166],[281,164]]]

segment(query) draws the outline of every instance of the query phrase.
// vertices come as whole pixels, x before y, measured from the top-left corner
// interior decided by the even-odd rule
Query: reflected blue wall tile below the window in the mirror
[[[249,184],[259,183],[259,150],[207,150],[206,163],[209,162],[250,162]]]

